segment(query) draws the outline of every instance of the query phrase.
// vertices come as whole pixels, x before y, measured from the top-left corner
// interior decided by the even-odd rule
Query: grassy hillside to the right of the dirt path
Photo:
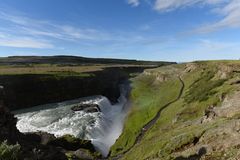
[[[224,62],[219,63],[222,65]],[[217,127],[219,123],[224,123],[226,119],[217,119],[207,124],[201,123],[201,117],[209,106],[220,105],[220,97],[236,90],[229,82],[239,76],[238,73],[230,73],[224,79],[219,78],[216,76],[219,63],[197,62],[195,63],[197,69],[189,73],[182,72],[181,77],[185,83],[182,97],[163,110],[160,119],[145,134],[142,141],[122,159],[174,159],[175,151],[185,145],[191,145],[196,137]],[[197,94],[201,94],[200,98],[196,97]],[[126,126],[128,123],[131,122],[127,121]]]

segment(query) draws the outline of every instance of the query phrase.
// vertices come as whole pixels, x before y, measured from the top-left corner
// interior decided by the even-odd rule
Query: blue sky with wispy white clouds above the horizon
[[[240,58],[240,0],[0,0],[0,56]]]

